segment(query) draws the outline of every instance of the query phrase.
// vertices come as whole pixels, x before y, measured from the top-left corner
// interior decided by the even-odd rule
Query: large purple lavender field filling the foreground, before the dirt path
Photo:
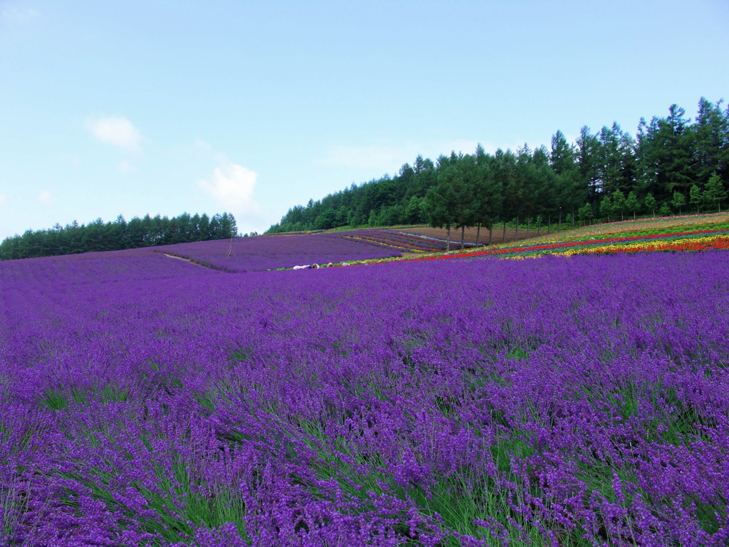
[[[2,546],[729,539],[728,252],[121,253],[0,263]]]

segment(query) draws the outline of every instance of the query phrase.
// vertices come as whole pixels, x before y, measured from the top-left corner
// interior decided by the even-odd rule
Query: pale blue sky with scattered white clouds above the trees
[[[0,1],[0,238],[291,206],[729,99],[729,2]]]

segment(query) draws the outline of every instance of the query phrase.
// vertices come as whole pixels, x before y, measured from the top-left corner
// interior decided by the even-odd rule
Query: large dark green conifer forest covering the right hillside
[[[638,214],[720,211],[729,187],[729,108],[701,98],[692,121],[673,104],[666,117],[620,125],[551,147],[451,152],[416,158],[397,176],[354,185],[289,209],[266,233],[342,226],[430,223],[491,230],[509,222],[553,229],[556,223],[610,222]]]

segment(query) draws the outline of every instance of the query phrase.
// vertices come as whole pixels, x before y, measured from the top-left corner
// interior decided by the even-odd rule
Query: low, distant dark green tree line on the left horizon
[[[212,217],[183,213],[172,218],[147,214],[129,222],[119,215],[114,222],[98,218],[87,225],[74,220],[66,226],[56,224],[50,230],[27,230],[22,236],[5,238],[0,243],[0,260],[225,239],[237,235],[237,230],[231,213]]]

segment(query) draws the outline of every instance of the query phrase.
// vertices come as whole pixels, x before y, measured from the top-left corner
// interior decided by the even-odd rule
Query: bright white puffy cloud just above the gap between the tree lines
[[[225,160],[212,176],[198,180],[198,186],[228,211],[257,214],[260,206],[253,197],[257,178],[255,171]]]

